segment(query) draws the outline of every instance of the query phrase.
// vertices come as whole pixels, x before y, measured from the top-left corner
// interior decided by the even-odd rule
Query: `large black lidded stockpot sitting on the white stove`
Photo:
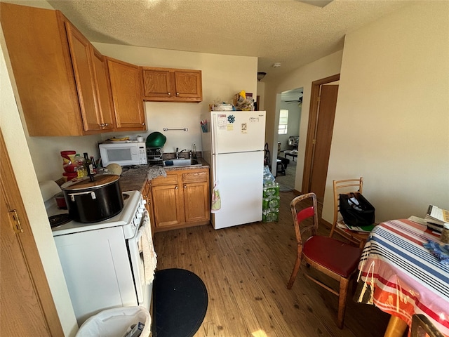
[[[120,176],[96,175],[74,179],[62,184],[69,215],[79,223],[96,223],[112,218],[123,209]]]

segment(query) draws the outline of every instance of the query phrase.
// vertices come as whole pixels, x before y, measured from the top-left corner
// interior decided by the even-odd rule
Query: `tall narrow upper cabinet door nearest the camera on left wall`
[[[91,44],[70,22],[65,22],[65,27],[67,29],[70,55],[72,55],[83,128],[85,131],[100,130],[101,117],[96,98],[97,91],[91,60]]]

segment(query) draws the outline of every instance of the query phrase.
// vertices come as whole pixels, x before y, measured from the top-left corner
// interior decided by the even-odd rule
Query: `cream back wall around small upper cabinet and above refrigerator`
[[[167,137],[164,152],[175,152],[175,147],[201,151],[200,115],[208,112],[211,103],[232,103],[234,94],[245,90],[257,95],[257,58],[169,51],[165,49],[94,44],[100,53],[134,65],[172,67],[201,70],[203,101],[201,103],[145,103],[147,136],[159,131]],[[163,131],[163,128],[188,128],[189,131]],[[124,133],[126,134],[126,133]]]

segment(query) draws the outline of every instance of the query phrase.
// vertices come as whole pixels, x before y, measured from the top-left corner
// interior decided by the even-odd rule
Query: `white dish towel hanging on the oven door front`
[[[157,265],[156,251],[154,251],[152,230],[149,225],[148,212],[143,214],[143,223],[140,226],[139,232],[142,233],[142,237],[138,242],[139,251],[143,256],[145,284],[151,284],[154,279],[154,271]]]

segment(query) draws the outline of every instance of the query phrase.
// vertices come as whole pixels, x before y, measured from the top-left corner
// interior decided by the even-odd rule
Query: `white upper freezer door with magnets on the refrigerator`
[[[265,112],[213,112],[213,153],[264,150]]]

